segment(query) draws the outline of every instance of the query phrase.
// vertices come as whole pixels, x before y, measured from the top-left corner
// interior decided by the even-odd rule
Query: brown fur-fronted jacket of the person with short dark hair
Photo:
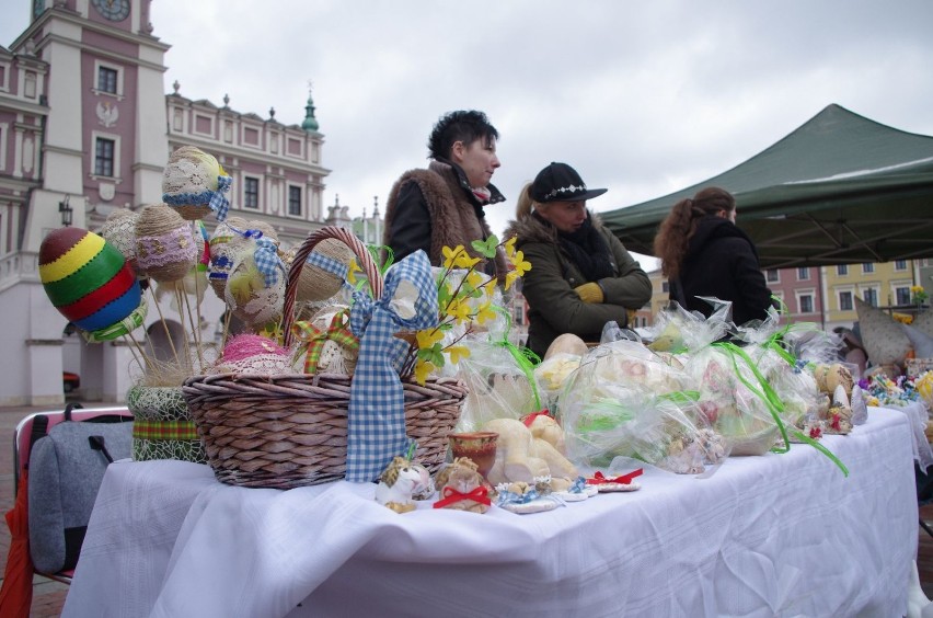
[[[487,187],[489,204],[505,201],[495,186]],[[481,258],[471,247],[474,240],[492,234],[483,206],[473,196],[460,168],[431,161],[427,170],[410,170],[402,174],[389,192],[385,206],[383,244],[391,247],[395,261],[418,249],[428,254],[431,265],[444,263],[445,247],[462,244],[473,258]],[[505,254],[498,250],[494,264],[483,259],[481,270],[505,281]]]

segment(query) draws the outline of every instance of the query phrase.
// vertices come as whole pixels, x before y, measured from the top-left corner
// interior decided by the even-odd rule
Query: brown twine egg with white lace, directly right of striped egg
[[[136,221],[136,261],[157,282],[184,277],[197,263],[191,224],[165,204],[146,206]]]

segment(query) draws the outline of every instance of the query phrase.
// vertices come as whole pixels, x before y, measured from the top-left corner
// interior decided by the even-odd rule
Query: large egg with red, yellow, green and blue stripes
[[[119,322],[142,299],[123,253],[81,228],[59,228],[45,237],[39,247],[39,279],[55,308],[83,331]]]

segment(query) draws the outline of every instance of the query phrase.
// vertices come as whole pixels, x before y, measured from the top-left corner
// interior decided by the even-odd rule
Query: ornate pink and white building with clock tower
[[[30,26],[0,47],[0,316],[8,357],[0,405],[64,401],[62,370],[85,400],[123,401],[131,351],[68,334],[38,275],[43,238],[62,225],[96,231],[116,208],[158,204],[169,153],[216,156],[233,178],[231,214],[272,225],[285,247],[324,225],[324,136],[309,96],[302,125],[165,94],[169,45],[152,35],[151,0],[33,0]],[[349,225],[346,214],[332,222]],[[207,294],[210,297],[210,291]],[[211,339],[223,310],[204,307]],[[168,321],[178,321],[169,304]],[[147,331],[159,320],[150,309]],[[161,324],[160,324],[161,328]],[[139,331],[137,331],[139,332]],[[175,336],[175,334],[169,336]]]

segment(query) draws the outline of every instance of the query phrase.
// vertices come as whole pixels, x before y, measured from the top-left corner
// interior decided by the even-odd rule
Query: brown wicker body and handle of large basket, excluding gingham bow
[[[373,297],[382,275],[366,247],[347,230],[312,232],[288,273],[284,330],[291,343],[295,297],[301,267],[322,240],[336,238],[357,255]],[[344,478],[352,378],[343,375],[196,376],[182,387],[214,474],[221,482],[290,489]],[[448,434],[460,417],[466,387],[452,378],[421,386],[403,378],[405,431],[417,442],[415,459],[430,472],[444,464]]]

